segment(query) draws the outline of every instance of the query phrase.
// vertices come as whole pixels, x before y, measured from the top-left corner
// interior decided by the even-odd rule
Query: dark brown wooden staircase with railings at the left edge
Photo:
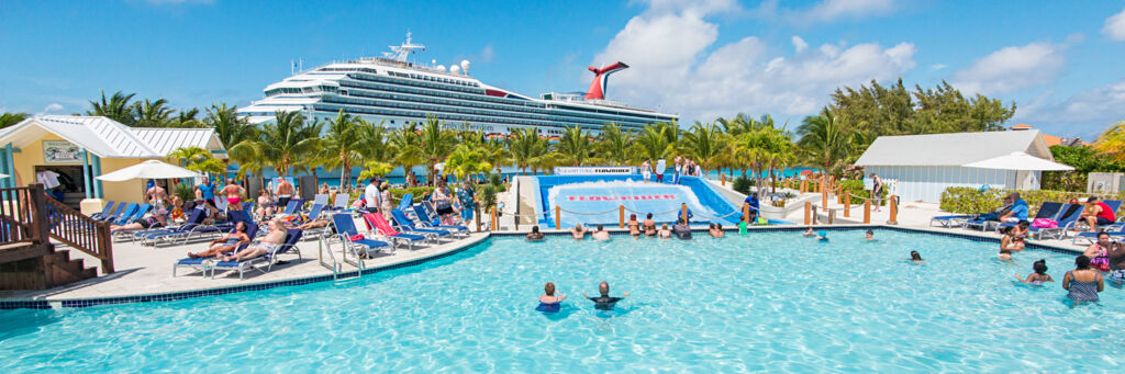
[[[97,267],[56,250],[51,239],[114,272],[108,224],[51,199],[42,184],[0,189],[0,290],[46,290],[98,276]]]

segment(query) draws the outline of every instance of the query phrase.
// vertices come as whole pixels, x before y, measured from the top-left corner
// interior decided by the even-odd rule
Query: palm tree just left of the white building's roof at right
[[[835,166],[846,162],[853,149],[853,138],[828,108],[822,109],[819,116],[806,117],[796,134],[800,137],[796,145],[806,159],[825,173],[831,173]]]

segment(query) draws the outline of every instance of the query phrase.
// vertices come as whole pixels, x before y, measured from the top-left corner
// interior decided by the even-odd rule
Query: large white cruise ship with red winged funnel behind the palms
[[[392,46],[382,57],[363,57],[295,72],[266,88],[266,98],[238,110],[252,124],[273,119],[276,111],[300,111],[309,119],[334,118],[341,110],[372,124],[400,127],[422,122],[426,116],[447,126],[468,125],[490,138],[514,129],[534,128],[556,138],[566,127],[596,134],[608,122],[640,128],[669,122],[676,115],[631,108],[605,99],[610,74],[628,69],[618,62],[590,67],[594,80],[585,93],[543,93],[539,99],[486,84],[469,75],[469,62],[448,69],[418,64],[412,57],[425,46],[406,42]]]

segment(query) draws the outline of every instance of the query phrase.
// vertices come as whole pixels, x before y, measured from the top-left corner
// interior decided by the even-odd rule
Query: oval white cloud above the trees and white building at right
[[[954,72],[951,81],[968,94],[1000,94],[1047,84],[1066,65],[1065,48],[1050,43],[1004,47]]]

